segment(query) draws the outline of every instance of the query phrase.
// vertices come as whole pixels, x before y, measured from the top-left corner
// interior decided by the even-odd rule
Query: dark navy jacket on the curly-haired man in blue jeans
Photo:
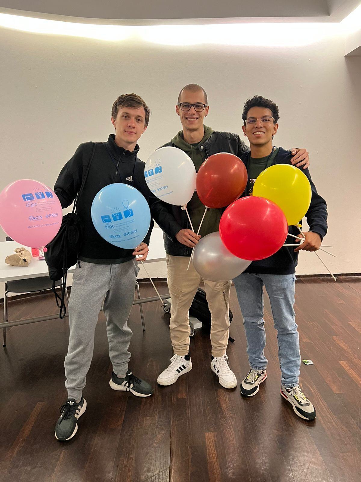
[[[250,152],[242,156],[242,161],[248,171]],[[289,151],[280,147],[277,157],[273,164],[291,164],[292,154]],[[311,203],[309,210],[306,213],[307,224],[309,230],[318,233],[321,239],[327,233],[327,205],[326,201],[318,194],[315,185],[312,182],[308,169],[299,168],[300,171],[306,174],[311,185]],[[242,197],[248,196],[247,188]],[[292,202],[292,200],[290,200]],[[296,226],[289,226],[288,232],[294,236],[298,236],[299,231]],[[288,237],[285,244],[294,244],[296,240]],[[262,274],[292,274],[296,271],[298,252],[295,253],[296,246],[285,246],[273,254],[269,258],[261,259],[260,261],[253,261],[245,270],[245,273],[262,273]]]

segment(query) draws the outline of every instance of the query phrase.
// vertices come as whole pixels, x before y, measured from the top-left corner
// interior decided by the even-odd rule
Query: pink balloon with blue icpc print
[[[0,225],[19,244],[41,248],[59,231],[62,206],[54,191],[33,179],[20,179],[0,193]]]

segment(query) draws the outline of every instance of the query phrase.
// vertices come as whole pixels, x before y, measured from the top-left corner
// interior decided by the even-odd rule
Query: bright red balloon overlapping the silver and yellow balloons
[[[225,247],[235,256],[251,261],[276,253],[288,234],[287,219],[274,202],[247,196],[233,202],[219,222]]]

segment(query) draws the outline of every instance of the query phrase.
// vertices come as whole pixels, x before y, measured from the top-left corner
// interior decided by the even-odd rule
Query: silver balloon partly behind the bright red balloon
[[[197,273],[208,281],[232,280],[248,268],[251,261],[234,256],[222,243],[219,231],[202,238],[193,253]]]

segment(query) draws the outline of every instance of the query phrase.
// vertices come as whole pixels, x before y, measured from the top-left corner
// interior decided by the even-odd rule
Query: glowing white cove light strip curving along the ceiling
[[[361,5],[340,23],[241,23],[216,25],[94,25],[0,13],[0,26],[26,32],[162,45],[219,44],[297,47],[360,28]]]

